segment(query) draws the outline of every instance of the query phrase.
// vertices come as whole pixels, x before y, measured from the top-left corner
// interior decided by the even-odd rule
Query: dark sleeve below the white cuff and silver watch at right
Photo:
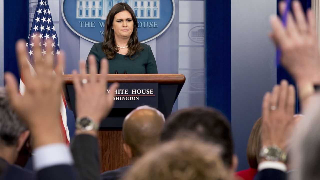
[[[286,180],[287,175],[285,172],[276,169],[263,169],[259,171],[254,180]]]

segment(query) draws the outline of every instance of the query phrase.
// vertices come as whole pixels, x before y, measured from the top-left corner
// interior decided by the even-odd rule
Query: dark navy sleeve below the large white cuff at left
[[[78,180],[75,169],[70,165],[57,165],[41,169],[36,174],[38,180]]]

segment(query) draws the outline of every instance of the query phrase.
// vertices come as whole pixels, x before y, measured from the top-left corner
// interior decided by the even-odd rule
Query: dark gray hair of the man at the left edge
[[[6,89],[0,87],[0,143],[6,146],[15,145],[21,133],[26,130],[27,126],[20,121],[9,104]]]

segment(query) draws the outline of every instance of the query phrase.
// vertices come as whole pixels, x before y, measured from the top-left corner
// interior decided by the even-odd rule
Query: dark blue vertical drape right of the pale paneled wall
[[[206,105],[231,120],[231,1],[205,3]]]

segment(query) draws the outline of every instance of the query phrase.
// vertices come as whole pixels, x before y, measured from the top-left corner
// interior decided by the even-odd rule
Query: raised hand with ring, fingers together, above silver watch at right
[[[288,151],[292,130],[295,127],[293,118],[295,110],[295,89],[282,80],[274,86],[272,93],[267,92],[262,102],[262,146],[278,146]]]

